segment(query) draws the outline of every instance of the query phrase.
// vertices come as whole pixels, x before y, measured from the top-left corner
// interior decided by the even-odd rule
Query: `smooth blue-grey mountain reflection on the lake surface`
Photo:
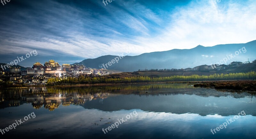
[[[213,90],[215,91],[215,90]],[[99,103],[92,100],[83,105],[86,109],[99,109],[101,111],[119,111],[141,109],[148,112],[165,112],[165,113],[197,113],[202,116],[219,114],[222,116],[236,115],[242,110],[246,114],[256,116],[255,96],[249,96],[248,93],[233,95],[228,92],[221,95],[222,92],[207,92],[201,90],[196,94],[173,94],[162,93],[156,95],[117,95],[109,97]],[[203,97],[207,93],[215,93],[218,97]],[[219,93],[219,94],[218,94]],[[220,97],[221,96],[221,97]],[[236,99],[234,96],[239,96]]]

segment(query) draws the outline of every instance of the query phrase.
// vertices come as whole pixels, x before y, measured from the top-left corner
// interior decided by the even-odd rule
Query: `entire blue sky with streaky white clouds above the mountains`
[[[106,4],[106,2],[105,2]],[[0,3],[0,62],[81,62],[256,40],[255,0],[10,0]]]

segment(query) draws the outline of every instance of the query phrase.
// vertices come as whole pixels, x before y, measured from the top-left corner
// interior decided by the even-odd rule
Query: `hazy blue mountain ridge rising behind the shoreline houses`
[[[240,49],[240,51],[239,51]],[[192,49],[172,49],[163,52],[144,53],[137,56],[125,56],[106,69],[114,69],[124,72],[137,71],[138,69],[180,69],[193,68],[199,65],[211,65],[220,60],[227,59],[227,63],[233,61],[253,61],[256,59],[256,40],[242,44],[221,44],[212,47],[198,45]],[[232,55],[231,55],[232,54]],[[238,55],[236,55],[238,54]],[[100,56],[95,59],[85,59],[74,64],[83,64],[91,68],[104,68],[102,64],[111,62],[115,55]]]

